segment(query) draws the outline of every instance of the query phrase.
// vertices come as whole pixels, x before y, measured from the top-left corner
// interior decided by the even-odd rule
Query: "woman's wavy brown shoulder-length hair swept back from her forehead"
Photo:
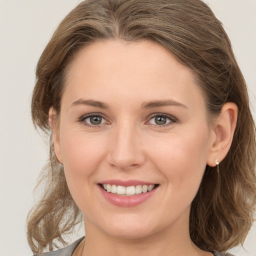
[[[60,111],[65,73],[71,58],[89,43],[103,39],[152,40],[195,73],[208,114],[217,116],[226,102],[238,106],[231,148],[215,167],[207,166],[190,211],[190,236],[204,250],[225,251],[242,243],[252,224],[256,203],[255,126],[244,78],[229,39],[201,0],[85,0],[59,24],[36,68],[32,119],[50,137],[50,164],[40,182],[41,200],[28,216],[27,237],[33,252],[81,220],[54,155],[48,111]],[[43,173],[44,173],[43,172]]]

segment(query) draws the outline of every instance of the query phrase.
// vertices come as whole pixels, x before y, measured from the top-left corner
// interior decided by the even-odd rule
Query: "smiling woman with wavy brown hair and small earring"
[[[34,253],[64,242],[80,212],[86,238],[49,255],[222,255],[243,242],[255,126],[205,3],[83,1],[36,77],[32,118],[50,136],[50,164],[28,217]]]

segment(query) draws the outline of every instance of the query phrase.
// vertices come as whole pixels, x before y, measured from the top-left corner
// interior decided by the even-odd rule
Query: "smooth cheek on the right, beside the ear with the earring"
[[[198,189],[208,150],[207,128],[204,130],[173,132],[148,145],[154,164],[179,191],[186,187]]]

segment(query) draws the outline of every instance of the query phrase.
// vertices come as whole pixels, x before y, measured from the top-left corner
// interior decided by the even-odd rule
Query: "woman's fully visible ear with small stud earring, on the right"
[[[228,102],[222,106],[221,113],[216,118],[211,129],[211,141],[207,155],[207,164],[215,166],[215,159],[221,162],[232,143],[234,130],[237,121],[237,106],[235,103]]]

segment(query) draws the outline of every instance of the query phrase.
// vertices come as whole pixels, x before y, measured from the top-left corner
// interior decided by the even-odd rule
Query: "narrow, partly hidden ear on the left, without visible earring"
[[[52,139],[53,139],[55,155],[58,162],[62,164],[63,161],[62,161],[62,155],[61,155],[60,143],[59,143],[58,120],[57,120],[56,111],[52,106],[49,109],[49,124],[52,131]]]

